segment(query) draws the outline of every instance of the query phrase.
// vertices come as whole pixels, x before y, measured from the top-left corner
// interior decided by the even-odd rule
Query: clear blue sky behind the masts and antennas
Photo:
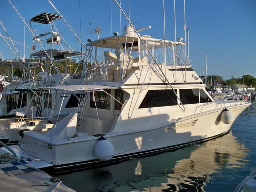
[[[51,0],[52,1],[52,0]],[[119,3],[120,0],[118,0]],[[11,0],[26,21],[41,12],[52,13],[47,0]],[[176,0],[176,34],[184,39],[183,0]],[[111,36],[110,4],[112,4],[112,31],[120,33],[119,10],[110,0],[53,0],[53,4],[67,20],[68,24],[80,36],[83,42],[95,34],[86,31],[97,26],[102,28],[100,38]],[[121,0],[121,6],[128,14],[128,0]],[[79,11],[80,9],[80,11]],[[174,40],[173,0],[165,0],[166,39]],[[55,12],[55,11],[54,11]],[[136,28],[151,26],[141,35],[163,38],[163,1],[130,0],[130,19]],[[14,41],[23,43],[22,20],[11,7],[8,0],[1,0],[0,20]],[[205,52],[208,52],[208,74],[223,76],[225,79],[249,74],[256,77],[256,1],[255,0],[186,0],[186,20],[189,28],[189,59],[197,74],[205,69]],[[121,28],[127,24],[122,15]],[[74,35],[64,22],[56,22],[59,32],[75,50],[80,50]],[[38,33],[49,31],[49,26],[37,28]],[[0,33],[3,34],[0,27]],[[31,47],[32,36],[25,29],[26,45]],[[17,48],[23,55],[23,47]],[[56,47],[57,48],[57,47]],[[0,53],[5,59],[15,58],[7,44],[0,39]],[[26,58],[29,49],[26,49]]]

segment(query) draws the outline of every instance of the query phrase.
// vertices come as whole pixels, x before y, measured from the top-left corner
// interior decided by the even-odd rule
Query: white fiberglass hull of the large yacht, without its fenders
[[[229,108],[234,120],[249,105]],[[159,128],[136,132],[130,130],[126,133],[121,133],[121,131],[119,133],[107,133],[104,137],[114,146],[115,153],[112,160],[133,155],[151,154],[153,151],[186,146],[226,133],[232,123],[223,123],[220,119],[221,112],[222,110],[216,110],[195,115]],[[31,131],[22,138],[20,147],[35,158],[63,168],[71,165],[101,162],[94,153],[98,140],[99,137],[83,136],[53,143],[50,140],[39,139],[39,134],[37,139],[37,134]]]

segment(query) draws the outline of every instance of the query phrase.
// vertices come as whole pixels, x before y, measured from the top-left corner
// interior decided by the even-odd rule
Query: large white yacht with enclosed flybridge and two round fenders
[[[140,36],[132,26],[125,26],[124,35],[89,42],[83,85],[38,88],[62,98],[80,91],[77,112],[45,134],[21,131],[12,150],[37,168],[61,169],[149,155],[227,133],[250,98],[212,99],[184,45]],[[66,104],[61,101],[60,110]]]

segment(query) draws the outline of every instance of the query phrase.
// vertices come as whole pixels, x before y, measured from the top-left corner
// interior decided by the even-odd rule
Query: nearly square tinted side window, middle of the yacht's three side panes
[[[199,89],[180,89],[182,104],[199,103]]]

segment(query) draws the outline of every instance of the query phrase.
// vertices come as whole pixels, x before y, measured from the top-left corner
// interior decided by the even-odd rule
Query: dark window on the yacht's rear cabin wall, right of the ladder
[[[110,89],[105,90],[107,93],[110,94]],[[93,100],[93,92],[90,94],[90,107],[96,108],[95,103],[98,109],[105,109],[105,110],[110,110],[110,96],[103,92],[103,91],[95,91],[94,92],[94,97],[95,101]]]

